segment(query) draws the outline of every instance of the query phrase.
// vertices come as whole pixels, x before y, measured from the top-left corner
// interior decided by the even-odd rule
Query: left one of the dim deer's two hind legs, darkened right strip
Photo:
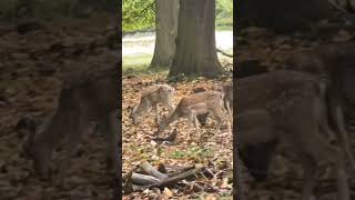
[[[302,156],[302,166],[304,169],[303,181],[302,181],[302,200],[314,199],[313,187],[315,182],[315,170],[316,163],[313,158],[308,154]]]

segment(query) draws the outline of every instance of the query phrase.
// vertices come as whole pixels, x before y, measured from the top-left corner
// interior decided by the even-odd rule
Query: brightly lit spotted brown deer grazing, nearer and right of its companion
[[[224,94],[219,91],[205,91],[199,93],[192,93],[187,97],[184,97],[180,100],[174,112],[170,114],[165,120],[159,124],[156,133],[161,133],[164,129],[179,118],[185,118],[189,122],[190,130],[187,131],[187,140],[190,140],[190,131],[192,126],[197,131],[199,139],[201,139],[201,133],[199,129],[199,123],[196,116],[203,113],[211,113],[216,120],[216,132],[215,136],[220,132],[222,122],[225,120],[223,111],[223,98]],[[227,121],[227,120],[226,120]],[[227,121],[227,129],[231,132],[230,122]],[[200,140],[199,140],[200,141]]]

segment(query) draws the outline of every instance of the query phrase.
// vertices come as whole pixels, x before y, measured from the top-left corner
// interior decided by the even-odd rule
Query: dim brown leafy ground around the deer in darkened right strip
[[[285,67],[286,60],[295,52],[312,50],[320,44],[349,41],[355,39],[355,31],[328,31],[312,33],[276,34],[266,29],[247,28],[237,33],[235,42],[237,51],[234,53],[237,58],[237,66],[244,61],[256,60],[258,64],[268,67],[268,70],[281,69]],[[242,66],[242,64],[240,64]],[[354,140],[354,139],[353,139]],[[353,141],[352,140],[352,141]],[[353,142],[354,144],[354,142]],[[353,146],[353,149],[355,147]],[[255,183],[246,170],[245,177],[247,192],[246,199],[300,199],[302,168],[300,163],[288,161],[281,156],[273,160],[271,176],[263,183]],[[318,180],[315,194],[320,200],[331,200],[336,192],[336,181],[332,177],[325,176],[325,172],[317,171]],[[352,180],[352,199],[355,184]],[[335,198],[336,199],[336,198]]]

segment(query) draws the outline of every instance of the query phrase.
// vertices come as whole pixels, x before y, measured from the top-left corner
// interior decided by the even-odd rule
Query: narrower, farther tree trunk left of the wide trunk
[[[179,0],[155,0],[155,48],[151,68],[170,68],[175,53]]]

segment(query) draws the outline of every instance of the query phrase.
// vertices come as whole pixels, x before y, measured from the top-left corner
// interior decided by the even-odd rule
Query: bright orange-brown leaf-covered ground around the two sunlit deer
[[[193,191],[191,187],[194,182],[189,182],[183,187],[171,187],[164,190],[144,190],[141,192],[133,192],[124,196],[124,199],[232,199],[232,136],[227,133],[226,127],[222,128],[222,132],[214,140],[215,122],[212,119],[207,120],[206,127],[201,128],[202,141],[197,141],[196,134],[192,131],[192,141],[187,142],[185,139],[186,123],[180,120],[178,123],[171,124],[164,131],[163,136],[170,134],[174,128],[178,130],[178,139],[173,143],[156,143],[152,140],[156,131],[156,123],[154,113],[150,112],[146,119],[134,126],[129,118],[130,107],[136,104],[140,100],[140,92],[142,88],[165,82],[166,72],[159,72],[152,74],[140,76],[124,76],[122,88],[122,130],[123,130],[123,173],[129,172],[134,166],[143,161],[149,161],[152,166],[158,167],[164,164],[166,169],[178,170],[191,166],[205,166],[215,172],[215,178],[199,178],[194,182],[201,183],[202,191]],[[229,78],[221,78],[221,80],[207,80],[197,78],[192,81],[183,80],[175,83],[170,83],[176,90],[174,96],[174,104],[179,100],[193,92],[194,88],[213,89],[215,86],[227,80]],[[164,118],[168,114],[166,110],[162,110],[161,114]],[[178,170],[179,171],[179,170]]]

